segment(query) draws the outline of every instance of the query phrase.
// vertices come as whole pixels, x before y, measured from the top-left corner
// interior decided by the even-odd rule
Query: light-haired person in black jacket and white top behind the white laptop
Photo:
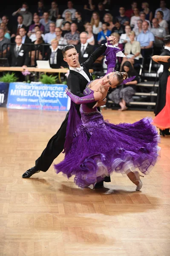
[[[45,60],[49,61],[50,67],[52,68],[60,68],[61,66],[65,66],[63,63],[63,55],[61,49],[58,48],[57,39],[52,39],[51,49],[47,51]]]

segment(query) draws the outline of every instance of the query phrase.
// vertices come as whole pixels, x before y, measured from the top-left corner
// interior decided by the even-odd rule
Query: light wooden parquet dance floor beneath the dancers
[[[102,113],[114,123],[154,116]],[[170,137],[139,192],[120,174],[98,190],[77,188],[52,166],[21,177],[65,115],[0,108],[0,256],[170,256]]]

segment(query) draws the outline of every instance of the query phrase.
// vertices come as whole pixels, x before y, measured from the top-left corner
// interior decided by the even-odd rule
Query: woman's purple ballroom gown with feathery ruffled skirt
[[[115,67],[116,52],[116,48],[106,50],[107,73]],[[127,81],[130,79],[124,83]],[[92,99],[94,92],[88,87],[91,82],[87,84],[84,96],[91,95]],[[84,97],[79,99],[83,103],[80,106],[81,119],[71,101],[65,157],[54,165],[56,173],[62,172],[68,178],[75,175],[76,185],[83,188],[94,186],[112,172],[125,174],[129,169],[139,169],[143,174],[149,174],[156,164],[159,150],[159,135],[151,124],[152,118],[115,125],[104,121],[97,108],[88,108]]]

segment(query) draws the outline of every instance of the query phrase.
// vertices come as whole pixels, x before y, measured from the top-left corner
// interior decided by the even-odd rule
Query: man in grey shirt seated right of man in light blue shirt
[[[152,24],[153,24],[153,27],[152,29],[150,29],[150,32],[152,32],[153,35],[155,36],[154,46],[158,48],[163,48],[164,37],[167,35],[167,32],[163,27],[159,25],[157,18],[153,18]]]

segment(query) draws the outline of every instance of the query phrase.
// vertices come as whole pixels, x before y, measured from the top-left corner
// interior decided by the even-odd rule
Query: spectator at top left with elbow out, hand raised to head
[[[18,9],[16,12],[12,13],[12,16],[22,15],[23,16],[23,25],[28,27],[32,23],[32,13],[28,11],[29,6],[27,3],[22,4],[22,8]]]

